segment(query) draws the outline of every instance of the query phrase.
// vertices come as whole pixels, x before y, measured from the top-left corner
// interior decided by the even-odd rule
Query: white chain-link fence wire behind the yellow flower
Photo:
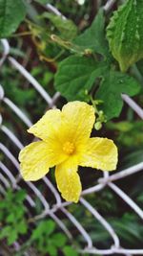
[[[39,84],[38,81],[36,81],[15,58],[10,57],[10,45],[9,42],[6,39],[1,40],[1,44],[3,47],[3,54],[2,58],[0,59],[0,66],[5,64],[5,61],[9,61],[12,68],[16,69],[18,71],[18,75],[25,78],[26,81],[29,81],[31,83],[31,86],[40,94],[40,96],[45,100],[46,105],[49,105],[50,108],[55,107],[60,94],[57,92],[51,96],[45,91],[43,86]],[[143,119],[143,109],[141,109],[140,106],[136,105],[136,103],[133,102],[133,100],[127,96],[122,95],[123,100],[130,105],[133,110],[138,114],[138,116]],[[18,105],[15,105],[9,98],[7,98],[7,95],[5,95],[5,91],[3,88],[3,84],[0,85],[0,101],[3,107],[7,106],[10,109],[10,113],[13,112],[28,128],[31,127],[31,119],[18,107]],[[5,122],[3,122],[2,115],[0,114],[0,132],[1,135],[6,137],[6,141],[10,141],[17,149],[17,151],[20,151],[24,146],[21,143],[21,141],[16,137],[13,130],[11,130],[7,125],[4,125]],[[37,189],[37,187],[34,185],[34,183],[31,182],[21,182],[21,176],[19,174],[19,163],[18,160],[15,158],[13,153],[10,151],[10,149],[7,148],[6,145],[3,143],[0,143],[0,151],[5,155],[5,159],[9,159],[11,166],[13,167],[14,172],[12,173],[12,169],[9,169],[6,162],[0,162],[0,193],[1,195],[5,195],[8,188],[12,187],[14,190],[19,190],[23,186],[28,188],[28,195],[27,195],[27,202],[28,202],[28,209],[35,207],[35,201],[36,198],[38,198],[41,201],[41,204],[43,206],[41,213],[38,216],[34,216],[34,220],[40,220],[46,217],[51,217],[53,221],[55,221],[58,226],[63,230],[63,232],[68,236],[70,241],[72,241],[72,228],[77,229],[79,234],[82,237],[82,240],[84,243],[81,243],[81,247],[79,248],[79,251],[81,253],[90,253],[90,254],[101,254],[101,255],[116,255],[116,254],[123,254],[123,255],[143,255],[143,248],[142,249],[130,249],[130,248],[124,248],[122,247],[122,244],[120,243],[120,238],[115,233],[114,229],[112,228],[112,225],[106,221],[106,219],[100,215],[100,213],[92,206],[92,204],[86,199],[86,196],[89,194],[94,193],[100,193],[100,191],[104,190],[106,187],[110,187],[112,192],[116,194],[119,198],[124,200],[138,215],[138,217],[143,220],[143,211],[142,209],[133,201],[132,198],[130,198],[124,191],[122,191],[117,185],[114,184],[114,181],[117,181],[119,179],[128,177],[129,175],[133,175],[137,172],[143,171],[143,162],[136,164],[126,170],[122,170],[121,172],[115,173],[113,175],[109,174],[108,172],[103,172],[103,176],[96,180],[96,185],[93,187],[90,187],[86,190],[82,191],[82,195],[80,198],[79,204],[82,205],[86,211],[89,211],[92,215],[92,218],[94,218],[94,221],[98,221],[110,234],[112,238],[112,245],[107,249],[98,249],[94,246],[92,243],[92,238],[89,235],[89,232],[86,230],[86,228],[75,219],[73,214],[68,210],[68,206],[71,204],[70,202],[63,202],[62,198],[60,197],[58,191],[56,188],[52,185],[50,179],[45,176],[41,180],[41,184],[48,188],[49,191],[51,191],[51,195],[53,198],[53,203],[51,203],[48,198],[42,195],[42,193]],[[32,195],[32,196],[31,196]],[[80,207],[79,205],[79,207]],[[30,210],[30,209],[29,209]],[[71,222],[71,226],[67,227],[65,224],[65,221],[62,221],[61,218],[59,218],[59,212],[62,213],[62,215],[65,216],[66,219],[68,219]],[[69,226],[69,225],[68,225]],[[96,232],[96,230],[92,230],[93,232]],[[19,248],[19,244],[15,243],[15,246],[17,246],[17,249]],[[27,255],[27,253],[25,254]]]

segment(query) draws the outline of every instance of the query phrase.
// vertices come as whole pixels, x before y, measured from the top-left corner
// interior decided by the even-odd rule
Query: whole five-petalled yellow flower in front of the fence
[[[83,102],[52,109],[28,131],[41,139],[19,154],[21,175],[37,180],[56,166],[55,179],[62,197],[77,202],[81,194],[78,166],[102,171],[116,168],[117,149],[112,140],[90,138],[95,122],[94,108]]]

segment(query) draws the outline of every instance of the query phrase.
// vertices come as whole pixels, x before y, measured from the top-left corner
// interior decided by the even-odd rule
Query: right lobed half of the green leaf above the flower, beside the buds
[[[118,117],[123,106],[121,94],[136,95],[140,90],[140,84],[132,77],[120,72],[110,71],[102,80],[95,98],[103,101],[101,109],[107,119]]]

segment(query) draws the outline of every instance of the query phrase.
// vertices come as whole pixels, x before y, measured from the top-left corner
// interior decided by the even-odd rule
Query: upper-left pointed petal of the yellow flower
[[[61,111],[59,109],[51,109],[28,131],[44,141],[47,141],[49,138],[56,140],[56,133],[60,126]]]

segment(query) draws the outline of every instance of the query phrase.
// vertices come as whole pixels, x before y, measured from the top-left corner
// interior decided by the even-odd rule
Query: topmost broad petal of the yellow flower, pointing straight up
[[[83,102],[71,102],[63,106],[62,114],[76,142],[90,137],[95,122],[92,105]]]

